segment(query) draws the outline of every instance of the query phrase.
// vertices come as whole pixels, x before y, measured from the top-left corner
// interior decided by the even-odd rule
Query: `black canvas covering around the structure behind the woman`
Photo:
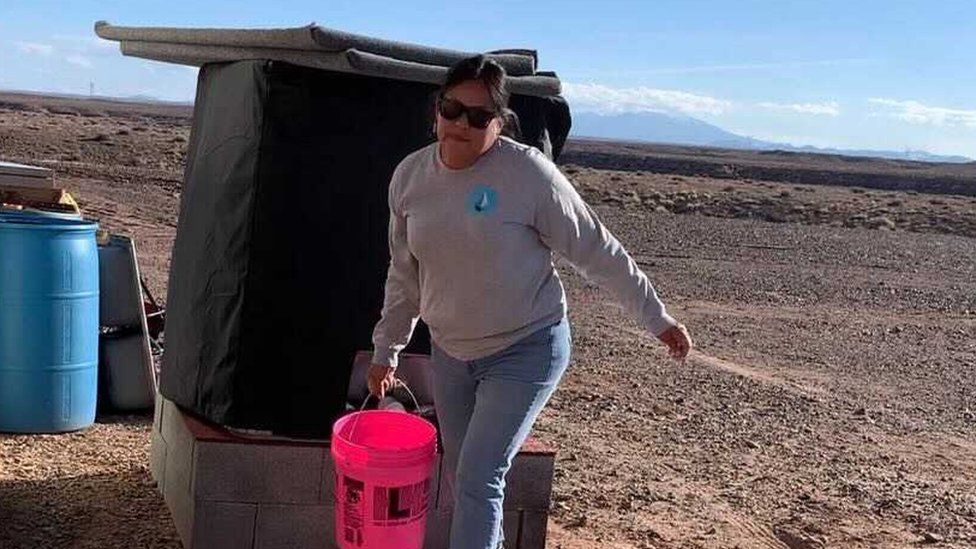
[[[325,438],[371,348],[387,190],[430,143],[436,86],[278,61],[200,70],[169,280],[161,392],[220,424]],[[569,110],[516,96],[558,155]],[[420,326],[409,352],[429,352]]]

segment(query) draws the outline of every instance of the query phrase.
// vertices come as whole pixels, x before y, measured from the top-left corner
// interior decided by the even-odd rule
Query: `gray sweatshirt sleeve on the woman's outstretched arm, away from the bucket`
[[[647,275],[551,162],[543,168],[536,230],[550,249],[587,279],[613,292],[617,301],[655,336],[677,322],[667,314]]]

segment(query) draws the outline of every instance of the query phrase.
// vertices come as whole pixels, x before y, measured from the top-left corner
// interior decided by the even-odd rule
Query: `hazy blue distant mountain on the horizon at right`
[[[722,128],[683,114],[666,112],[639,112],[614,115],[581,112],[573,114],[572,135],[621,141],[648,141],[722,147],[727,149],[781,150],[844,156],[869,156],[895,160],[921,162],[972,162],[964,156],[945,156],[925,151],[876,151],[849,149],[821,149],[812,146],[794,146],[772,143],[738,135]]]

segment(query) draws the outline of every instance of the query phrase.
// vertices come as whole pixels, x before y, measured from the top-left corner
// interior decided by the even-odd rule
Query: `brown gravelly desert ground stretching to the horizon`
[[[190,108],[0,95],[165,298]],[[697,349],[560,265],[572,365],[550,547],[976,546],[976,165],[571,141],[564,173]],[[176,548],[151,419],[0,435],[0,547]]]

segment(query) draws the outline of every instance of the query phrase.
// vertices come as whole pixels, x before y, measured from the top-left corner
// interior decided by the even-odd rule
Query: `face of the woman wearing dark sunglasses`
[[[468,80],[448,89],[444,97],[464,104],[493,110],[491,97],[485,85],[478,80]],[[488,127],[479,129],[468,122],[467,114],[447,120],[437,112],[437,140],[441,154],[462,163],[473,162],[495,144],[502,130],[502,121],[495,117]]]

